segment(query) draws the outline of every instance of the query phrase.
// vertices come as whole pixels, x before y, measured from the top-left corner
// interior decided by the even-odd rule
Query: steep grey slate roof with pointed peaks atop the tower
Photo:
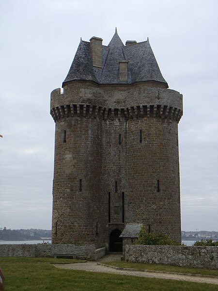
[[[157,65],[149,41],[125,46],[115,31],[108,46],[102,46],[102,68],[93,67],[90,43],[80,40],[73,63],[63,81],[95,81],[99,84],[123,84],[140,81],[166,83]],[[128,62],[128,81],[119,81],[119,62]]]

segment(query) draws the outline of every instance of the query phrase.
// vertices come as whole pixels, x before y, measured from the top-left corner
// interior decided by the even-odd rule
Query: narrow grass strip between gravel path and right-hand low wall
[[[176,267],[176,266],[161,265],[161,264],[130,263],[130,262],[125,262],[125,261],[104,262],[104,264],[109,265],[109,266],[120,267],[120,268],[218,276],[218,270]]]

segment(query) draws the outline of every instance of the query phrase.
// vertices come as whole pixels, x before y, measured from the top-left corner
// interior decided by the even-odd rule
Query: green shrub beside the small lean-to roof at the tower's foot
[[[147,233],[145,227],[142,226],[139,232],[139,238],[136,244],[144,245],[180,245],[180,243],[171,240],[167,235],[163,233]]]

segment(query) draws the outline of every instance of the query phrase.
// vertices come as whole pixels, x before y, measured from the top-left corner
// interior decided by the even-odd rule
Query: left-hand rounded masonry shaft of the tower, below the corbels
[[[75,117],[56,122],[53,243],[104,246],[107,215],[100,197],[101,131],[101,123],[96,119]]]

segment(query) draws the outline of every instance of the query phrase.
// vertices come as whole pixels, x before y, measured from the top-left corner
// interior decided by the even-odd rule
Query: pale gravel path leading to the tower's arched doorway
[[[114,261],[119,260],[121,255],[107,255],[104,258],[98,260],[99,263],[104,263],[104,261]],[[171,279],[171,280],[181,280],[181,281],[190,281],[198,283],[210,283],[218,285],[218,278],[205,277],[205,276],[196,276],[196,275],[180,275],[180,274],[167,274],[167,273],[158,273],[158,272],[139,272],[139,271],[129,271],[129,270],[117,270],[111,267],[106,267],[98,262],[88,261],[85,263],[76,263],[76,264],[65,264],[65,265],[54,265],[60,269],[68,270],[81,270],[87,272],[102,272],[108,274],[117,274],[117,275],[127,275],[127,276],[139,276],[146,278],[158,278],[158,279]]]

